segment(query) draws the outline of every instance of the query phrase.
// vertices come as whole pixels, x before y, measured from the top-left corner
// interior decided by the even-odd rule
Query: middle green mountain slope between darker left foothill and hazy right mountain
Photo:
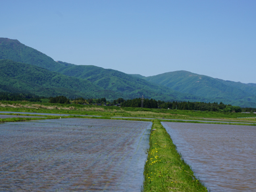
[[[191,100],[201,99],[190,94],[179,93],[164,87],[132,77],[117,70],[105,69],[92,65],[76,65],[58,61],[61,68],[57,72],[66,76],[72,76],[83,80],[88,80],[94,85],[98,85],[106,90],[115,91],[126,95],[126,98],[144,97],[160,100]]]

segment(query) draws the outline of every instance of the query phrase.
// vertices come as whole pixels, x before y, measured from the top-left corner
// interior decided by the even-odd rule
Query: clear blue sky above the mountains
[[[0,37],[54,60],[256,83],[256,1],[0,0]]]

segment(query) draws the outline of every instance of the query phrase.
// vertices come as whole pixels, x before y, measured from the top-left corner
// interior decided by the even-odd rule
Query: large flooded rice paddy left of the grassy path
[[[0,124],[0,191],[140,191],[151,122]]]

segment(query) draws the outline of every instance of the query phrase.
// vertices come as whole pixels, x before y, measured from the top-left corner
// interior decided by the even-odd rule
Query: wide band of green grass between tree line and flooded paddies
[[[127,116],[136,118],[170,118],[184,120],[240,120],[255,121],[256,114],[240,112],[213,112],[194,110],[166,110],[159,108],[105,107],[59,103],[36,103],[23,101],[0,101],[0,110],[16,112],[44,112],[56,114],[88,114],[99,116]],[[247,120],[240,118],[255,117]]]

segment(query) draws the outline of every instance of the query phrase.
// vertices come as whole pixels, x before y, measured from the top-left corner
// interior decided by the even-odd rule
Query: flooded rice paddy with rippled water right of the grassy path
[[[256,127],[162,122],[211,191],[256,190]]]

